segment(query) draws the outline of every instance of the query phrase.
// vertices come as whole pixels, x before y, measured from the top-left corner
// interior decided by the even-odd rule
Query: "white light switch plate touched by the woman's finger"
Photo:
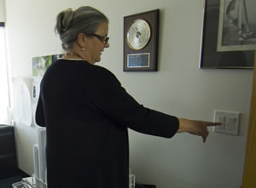
[[[239,134],[240,112],[214,111],[214,122],[222,122],[221,126],[213,127],[213,131],[221,134]]]

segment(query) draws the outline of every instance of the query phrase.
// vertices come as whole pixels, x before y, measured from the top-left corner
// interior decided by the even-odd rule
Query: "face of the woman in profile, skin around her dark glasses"
[[[94,33],[98,36],[89,36],[87,37],[87,45],[86,45],[86,52],[88,54],[89,62],[91,64],[95,64],[101,60],[102,52],[104,48],[109,47],[109,43],[105,43],[105,40],[101,40],[100,37],[106,39],[108,37],[108,23],[103,22],[98,26],[96,32]]]

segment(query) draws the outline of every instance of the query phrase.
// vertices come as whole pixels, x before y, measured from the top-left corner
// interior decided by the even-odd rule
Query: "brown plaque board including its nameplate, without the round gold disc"
[[[124,64],[123,71],[157,71],[159,9],[124,17]],[[145,20],[150,27],[150,39],[141,49],[134,49],[127,43],[127,32],[135,20]]]

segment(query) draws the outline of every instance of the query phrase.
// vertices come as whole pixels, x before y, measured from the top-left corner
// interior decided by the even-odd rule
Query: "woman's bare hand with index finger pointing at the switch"
[[[183,118],[178,118],[178,121],[179,129],[177,130],[177,133],[188,132],[189,134],[201,136],[204,143],[206,142],[207,136],[209,134],[207,127],[221,125],[221,122],[204,122]]]

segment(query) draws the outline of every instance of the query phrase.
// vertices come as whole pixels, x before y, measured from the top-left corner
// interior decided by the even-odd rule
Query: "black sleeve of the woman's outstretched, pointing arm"
[[[91,100],[114,122],[143,134],[160,137],[171,138],[177,133],[177,117],[138,104],[110,71],[102,69],[96,74],[90,88]]]

